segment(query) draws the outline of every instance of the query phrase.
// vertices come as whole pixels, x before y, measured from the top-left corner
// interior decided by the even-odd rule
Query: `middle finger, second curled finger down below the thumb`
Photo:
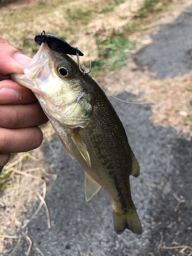
[[[15,129],[44,124],[48,121],[38,101],[26,105],[0,105],[0,125]]]

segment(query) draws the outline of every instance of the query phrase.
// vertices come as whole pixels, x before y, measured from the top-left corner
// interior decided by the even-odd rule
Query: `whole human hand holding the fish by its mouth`
[[[30,61],[0,36],[0,173],[11,153],[41,144],[37,125],[48,121],[33,92],[9,78],[11,73],[24,74]]]

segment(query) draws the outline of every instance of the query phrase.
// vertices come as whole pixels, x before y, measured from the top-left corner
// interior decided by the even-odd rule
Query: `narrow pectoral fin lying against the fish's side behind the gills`
[[[74,132],[71,134],[71,138],[75,143],[75,145],[77,146],[79,152],[83,156],[84,160],[86,160],[89,167],[91,167],[91,160],[90,160],[86,143],[84,142],[83,138],[80,136],[80,134],[76,129],[74,129]]]

